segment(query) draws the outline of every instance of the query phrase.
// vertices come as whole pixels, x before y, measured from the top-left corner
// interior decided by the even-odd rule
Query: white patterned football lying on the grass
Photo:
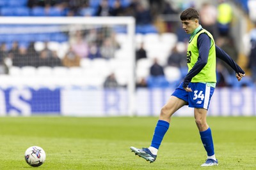
[[[25,160],[29,166],[41,166],[45,161],[46,155],[43,148],[39,146],[31,146],[25,152]]]

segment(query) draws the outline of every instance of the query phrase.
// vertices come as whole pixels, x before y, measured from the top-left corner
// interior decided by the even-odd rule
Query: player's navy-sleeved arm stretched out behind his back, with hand
[[[216,57],[226,62],[234,71],[236,71],[236,78],[238,81],[240,81],[243,76],[245,75],[243,69],[239,67],[236,62],[226,53],[224,50],[222,50],[220,47],[216,46]]]

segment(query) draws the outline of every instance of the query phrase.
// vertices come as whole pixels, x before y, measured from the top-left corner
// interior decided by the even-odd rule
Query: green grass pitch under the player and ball
[[[256,169],[256,117],[209,117],[219,166],[200,167],[206,153],[193,117],[173,117],[150,164],[130,146],[150,145],[157,117],[1,117],[0,169]],[[29,146],[46,152],[40,167]]]

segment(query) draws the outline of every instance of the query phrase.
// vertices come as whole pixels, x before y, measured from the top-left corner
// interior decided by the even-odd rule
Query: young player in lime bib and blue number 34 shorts
[[[195,108],[195,122],[207,152],[207,160],[202,166],[218,166],[211,129],[206,122],[207,110],[216,86],[216,57],[227,62],[236,71],[238,81],[245,73],[227,53],[215,45],[212,35],[202,28],[199,24],[198,11],[188,8],[182,11],[180,20],[184,31],[191,34],[187,51],[188,74],[161,109],[151,145],[142,149],[131,146],[131,150],[135,155],[154,162],[173,113],[188,105]]]

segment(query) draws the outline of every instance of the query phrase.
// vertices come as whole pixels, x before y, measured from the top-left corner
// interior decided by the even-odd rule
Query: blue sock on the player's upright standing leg
[[[206,131],[200,132],[201,140],[208,156],[214,155],[214,146],[212,141],[212,131],[210,127]]]

